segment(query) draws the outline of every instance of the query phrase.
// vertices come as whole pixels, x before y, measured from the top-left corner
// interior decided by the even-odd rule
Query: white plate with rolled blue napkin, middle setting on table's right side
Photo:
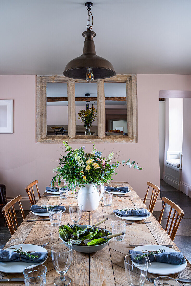
[[[114,209],[113,213],[116,217],[123,218],[127,221],[141,221],[151,216],[149,210],[144,208],[120,208]],[[148,222],[145,222],[148,223]]]

